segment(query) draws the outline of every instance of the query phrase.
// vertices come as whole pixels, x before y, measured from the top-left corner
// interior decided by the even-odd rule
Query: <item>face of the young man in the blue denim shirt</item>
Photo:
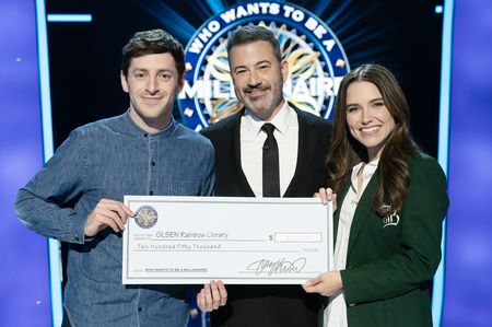
[[[176,62],[168,52],[132,58],[121,86],[130,96],[130,117],[143,130],[156,132],[171,122],[176,93],[183,89]]]

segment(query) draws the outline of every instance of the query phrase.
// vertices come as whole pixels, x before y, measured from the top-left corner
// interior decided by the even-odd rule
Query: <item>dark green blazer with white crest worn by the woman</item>
[[[441,261],[442,222],[449,200],[445,175],[434,159],[413,155],[409,172],[398,217],[382,219],[372,209],[377,171],[359,201],[341,271],[350,327],[432,326],[431,281]],[[338,208],[348,187],[338,195]]]

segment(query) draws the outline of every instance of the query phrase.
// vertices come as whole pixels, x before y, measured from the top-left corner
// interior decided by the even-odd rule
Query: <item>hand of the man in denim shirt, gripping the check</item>
[[[124,203],[109,199],[101,199],[91,213],[87,215],[84,224],[84,234],[87,237],[97,235],[98,232],[110,227],[116,233],[125,230],[128,217],[134,213]]]

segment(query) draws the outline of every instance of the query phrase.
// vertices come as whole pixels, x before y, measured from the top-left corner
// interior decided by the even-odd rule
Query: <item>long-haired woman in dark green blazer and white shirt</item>
[[[319,196],[338,208],[335,269],[304,285],[329,296],[323,326],[432,326],[446,179],[413,142],[406,97],[386,68],[343,78],[327,165],[331,188]]]

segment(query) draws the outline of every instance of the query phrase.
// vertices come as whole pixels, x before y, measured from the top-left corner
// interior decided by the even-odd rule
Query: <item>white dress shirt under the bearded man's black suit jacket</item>
[[[263,143],[267,132],[261,130],[263,121],[246,108],[241,118],[241,166],[256,197],[262,197]],[[280,194],[283,196],[292,180],[297,164],[298,121],[297,114],[288,102],[270,121],[276,130],[279,147]]]

